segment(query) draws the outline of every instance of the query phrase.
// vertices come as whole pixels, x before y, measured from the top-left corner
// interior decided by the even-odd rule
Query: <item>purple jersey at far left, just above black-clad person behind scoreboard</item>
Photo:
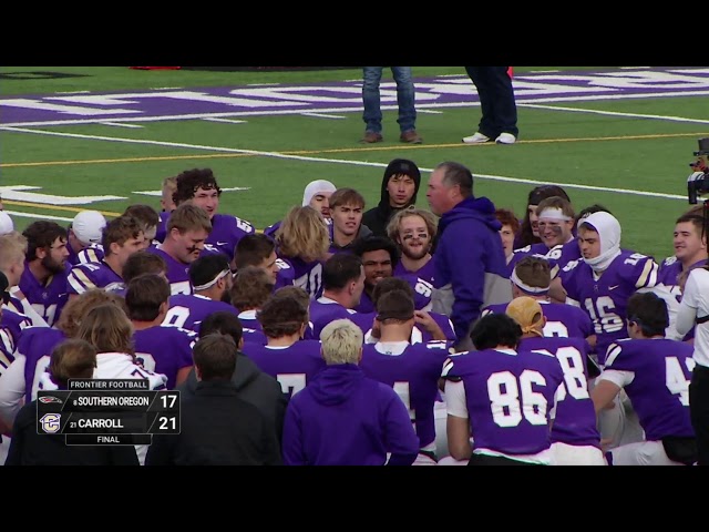
[[[28,327],[22,331],[17,352],[24,355],[24,402],[37,399],[40,378],[47,371],[54,347],[66,337],[59,329]]]

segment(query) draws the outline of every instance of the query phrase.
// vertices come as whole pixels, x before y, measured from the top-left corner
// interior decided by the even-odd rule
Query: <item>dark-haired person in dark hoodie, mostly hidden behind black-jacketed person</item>
[[[258,369],[258,366],[242,352],[244,338],[239,318],[224,310],[210,314],[202,321],[199,338],[213,334],[230,336],[236,342],[239,350],[236,355],[238,370],[232,375],[232,383],[237,390],[237,397],[250,402],[261,411],[273,424],[276,438],[280,442],[288,399],[281,391],[278,381]],[[197,376],[193,369],[187,376],[187,380],[177,387],[183,400],[195,395],[197,383]]]

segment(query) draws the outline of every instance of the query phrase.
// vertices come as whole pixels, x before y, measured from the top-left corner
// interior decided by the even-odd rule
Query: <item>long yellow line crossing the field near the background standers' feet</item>
[[[651,139],[678,139],[686,136],[701,136],[706,135],[707,132],[701,133],[669,133],[669,134],[655,134],[655,135],[627,135],[627,136],[602,136],[602,137],[585,137],[585,139],[537,139],[532,141],[517,141],[516,144],[551,144],[551,143],[561,143],[561,142],[605,142],[605,141],[640,141],[640,140],[651,140]],[[494,145],[494,143],[479,144],[482,146]],[[281,153],[284,155],[316,155],[316,154],[327,154],[327,153],[351,153],[351,152],[389,152],[392,150],[429,150],[429,149],[440,149],[440,147],[464,147],[470,149],[470,144],[455,143],[455,144],[417,144],[417,145],[405,145],[405,144],[395,144],[395,145],[377,145],[377,146],[358,146],[358,147],[338,147],[333,150],[298,150],[298,151],[286,151],[286,152],[276,152]],[[258,157],[263,156],[260,154],[251,154],[251,153],[212,153],[212,154],[203,154],[203,155],[172,155],[172,156],[158,156],[158,157],[125,157],[125,158],[96,158],[96,160],[86,160],[86,161],[44,161],[44,162],[35,162],[35,163],[0,163],[0,168],[19,168],[19,167],[31,167],[31,166],[65,166],[72,164],[113,164],[113,163],[145,163],[152,161],[179,161],[179,160],[191,160],[191,158],[237,158],[237,157]]]

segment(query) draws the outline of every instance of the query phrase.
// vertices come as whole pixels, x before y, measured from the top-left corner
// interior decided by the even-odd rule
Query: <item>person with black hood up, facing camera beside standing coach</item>
[[[388,236],[387,225],[399,211],[415,205],[421,186],[421,171],[413,161],[394,158],[384,171],[381,181],[379,205],[362,216],[362,224],[376,236]]]

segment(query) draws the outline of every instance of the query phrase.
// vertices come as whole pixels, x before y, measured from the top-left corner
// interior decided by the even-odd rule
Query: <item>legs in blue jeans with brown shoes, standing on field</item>
[[[362,83],[362,100],[364,102],[366,130],[363,143],[381,142],[381,99],[379,95],[379,84],[383,66],[364,66]],[[411,66],[391,66],[391,73],[397,82],[397,103],[399,104],[399,127],[401,129],[401,142],[409,144],[421,144],[423,139],[417,133],[415,121],[417,110],[414,106],[415,93],[413,81],[411,80]]]

